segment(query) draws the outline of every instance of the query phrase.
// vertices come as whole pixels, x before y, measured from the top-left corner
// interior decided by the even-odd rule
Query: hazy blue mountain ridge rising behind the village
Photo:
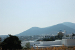
[[[66,30],[67,34],[75,33],[75,24],[70,22],[64,22],[61,24],[53,25],[46,28],[32,27],[20,34],[18,36],[27,36],[27,35],[42,35],[42,34],[57,34],[59,30]]]

